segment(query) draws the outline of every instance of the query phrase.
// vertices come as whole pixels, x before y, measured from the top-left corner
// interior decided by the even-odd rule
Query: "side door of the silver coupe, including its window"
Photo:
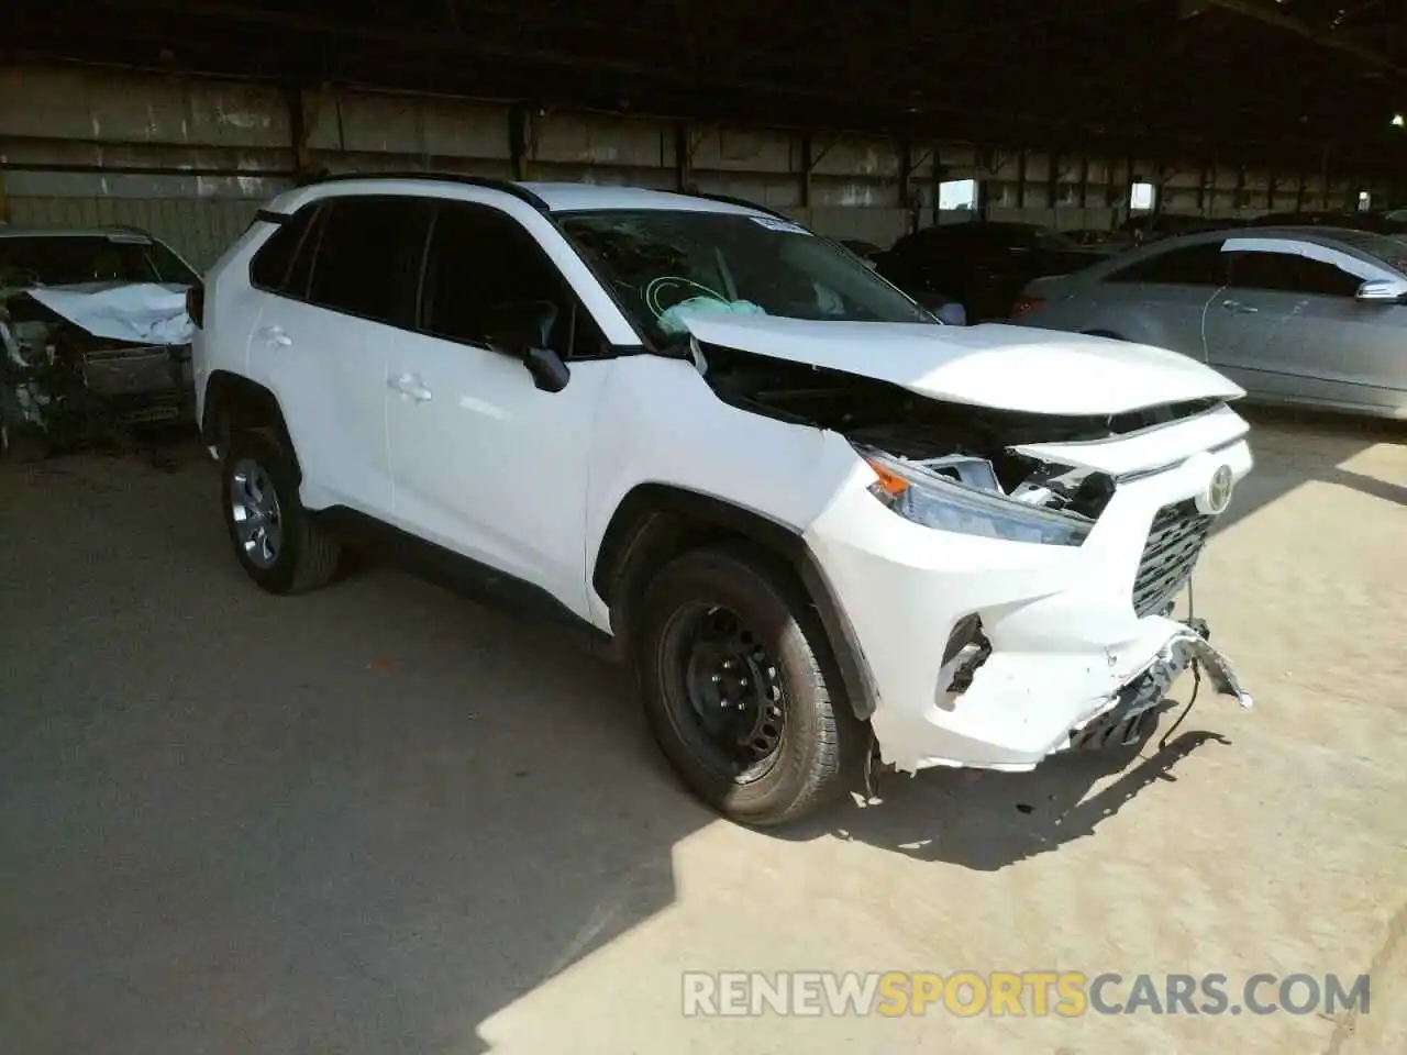
[[[1390,277],[1386,269],[1320,243],[1234,249],[1227,256],[1234,286],[1209,314],[1261,322],[1254,339],[1227,343],[1238,356],[1227,363],[1228,376],[1247,391],[1285,399],[1401,405],[1407,308],[1355,300],[1363,281]]]

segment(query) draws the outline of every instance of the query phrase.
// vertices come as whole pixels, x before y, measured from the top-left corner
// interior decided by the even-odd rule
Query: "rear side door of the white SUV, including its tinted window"
[[[250,374],[279,395],[312,508],[391,516],[386,363],[414,325],[429,215],[425,198],[324,200],[290,279],[265,298]]]

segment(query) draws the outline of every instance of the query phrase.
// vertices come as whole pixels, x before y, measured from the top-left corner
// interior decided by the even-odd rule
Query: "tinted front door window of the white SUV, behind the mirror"
[[[537,241],[507,212],[442,204],[425,260],[421,328],[439,338],[484,345],[495,308],[550,301],[557,321],[549,346],[564,359],[590,356],[602,340],[591,316]]]

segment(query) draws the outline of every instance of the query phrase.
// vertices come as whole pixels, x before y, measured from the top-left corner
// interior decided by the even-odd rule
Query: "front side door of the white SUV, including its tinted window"
[[[535,387],[491,350],[492,308],[552,301],[567,387]],[[395,519],[405,530],[550,594],[587,616],[582,529],[591,426],[612,360],[536,239],[488,205],[438,205],[419,332],[387,363]]]

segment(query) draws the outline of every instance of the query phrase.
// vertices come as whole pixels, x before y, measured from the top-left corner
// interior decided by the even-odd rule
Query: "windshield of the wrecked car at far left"
[[[0,286],[77,286],[93,281],[180,283],[198,279],[160,242],[138,235],[0,238]]]

